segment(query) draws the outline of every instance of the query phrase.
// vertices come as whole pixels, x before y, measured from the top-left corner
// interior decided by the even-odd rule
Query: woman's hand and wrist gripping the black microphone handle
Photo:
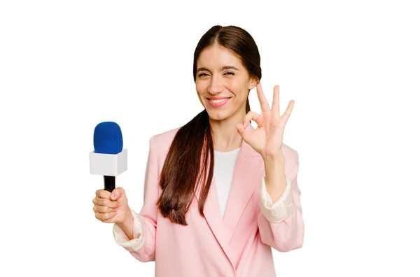
[[[117,187],[112,192],[97,190],[92,203],[94,215],[98,220],[116,223],[129,239],[133,239],[133,216],[123,187]]]

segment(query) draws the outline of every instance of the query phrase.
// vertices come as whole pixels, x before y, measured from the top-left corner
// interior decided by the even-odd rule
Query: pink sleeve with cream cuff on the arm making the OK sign
[[[296,170],[290,179],[286,177],[286,189],[274,203],[265,187],[265,176],[261,178],[258,230],[262,243],[279,252],[301,248],[303,245],[304,222],[300,189],[297,185],[297,171],[299,171],[297,152],[293,162]]]

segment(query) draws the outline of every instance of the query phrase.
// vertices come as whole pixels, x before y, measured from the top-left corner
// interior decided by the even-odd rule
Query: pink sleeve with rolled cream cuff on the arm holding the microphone
[[[158,218],[159,169],[154,136],[149,141],[148,160],[144,179],[144,204],[140,213],[132,210],[133,236],[129,240],[123,229],[114,224],[113,236],[118,245],[123,246],[140,262],[155,260],[155,237]]]

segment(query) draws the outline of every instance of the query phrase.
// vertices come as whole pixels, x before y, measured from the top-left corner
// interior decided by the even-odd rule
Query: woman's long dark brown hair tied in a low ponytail
[[[237,55],[250,77],[261,79],[260,53],[252,36],[236,26],[216,25],[202,36],[195,48],[194,82],[200,53],[215,43]],[[250,107],[246,99],[246,113],[248,111]],[[186,213],[194,199],[195,190],[202,183],[205,185],[200,192],[199,209],[200,215],[204,217],[204,203],[213,179],[213,169],[213,138],[209,114],[204,109],[176,132],[169,148],[159,181],[163,191],[156,202],[160,213],[176,224],[188,225]]]

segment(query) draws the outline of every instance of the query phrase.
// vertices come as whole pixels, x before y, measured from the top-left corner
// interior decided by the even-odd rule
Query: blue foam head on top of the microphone
[[[94,128],[95,153],[118,154],[123,150],[123,134],[116,122],[101,122]]]

